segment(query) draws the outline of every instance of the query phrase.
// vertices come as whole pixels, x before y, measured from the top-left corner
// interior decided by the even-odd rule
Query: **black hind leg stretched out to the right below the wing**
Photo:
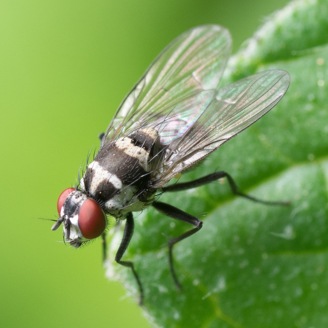
[[[171,191],[181,191],[181,190],[187,190],[187,189],[192,189],[192,188],[197,188],[199,186],[205,185],[207,183],[220,180],[226,178],[228,180],[230,189],[234,195],[238,195],[244,198],[247,198],[253,202],[261,203],[261,204],[266,204],[266,205],[289,205],[289,202],[284,202],[284,201],[268,201],[268,200],[263,200],[259,199],[250,195],[247,195],[243,192],[241,192],[234,181],[234,179],[231,177],[231,175],[227,172],[224,171],[219,171],[219,172],[214,172],[212,174],[206,175],[202,178],[189,181],[189,182],[182,182],[182,183],[177,183],[171,186],[167,186],[162,188],[163,192],[171,192]]]

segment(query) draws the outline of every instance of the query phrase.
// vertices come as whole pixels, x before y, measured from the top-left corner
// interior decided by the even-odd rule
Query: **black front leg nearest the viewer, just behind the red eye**
[[[130,243],[132,235],[133,235],[133,231],[134,231],[133,215],[132,215],[132,213],[129,213],[126,217],[123,238],[122,238],[121,244],[117,250],[117,253],[115,255],[115,261],[117,263],[131,269],[133,276],[137,282],[138,289],[139,289],[139,304],[142,305],[143,299],[144,299],[144,291],[143,291],[143,287],[142,287],[139,275],[137,274],[137,271],[134,268],[133,262],[122,261],[122,256],[124,255],[126,249],[129,246],[129,243]]]

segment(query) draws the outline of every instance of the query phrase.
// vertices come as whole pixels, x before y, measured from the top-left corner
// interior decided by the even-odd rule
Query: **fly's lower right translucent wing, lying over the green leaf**
[[[285,94],[289,75],[264,71],[217,91],[195,124],[166,150],[159,188],[266,114]]]

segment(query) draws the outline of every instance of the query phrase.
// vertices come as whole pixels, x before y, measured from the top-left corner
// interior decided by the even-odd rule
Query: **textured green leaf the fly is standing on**
[[[204,221],[201,231],[175,248],[182,291],[169,273],[167,241],[190,227],[151,208],[136,216],[124,259],[135,263],[152,323],[328,326],[327,17],[327,1],[292,2],[232,58],[226,81],[280,68],[290,73],[290,89],[268,115],[181,179],[224,170],[243,191],[291,205],[235,197],[226,181],[163,195],[161,201]],[[112,269],[137,300],[130,270],[116,264]]]

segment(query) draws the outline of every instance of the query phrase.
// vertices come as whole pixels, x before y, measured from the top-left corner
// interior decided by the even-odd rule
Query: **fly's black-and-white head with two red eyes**
[[[58,197],[57,210],[59,218],[52,230],[63,224],[64,239],[74,247],[99,237],[106,229],[106,215],[101,206],[80,190],[64,190]]]

